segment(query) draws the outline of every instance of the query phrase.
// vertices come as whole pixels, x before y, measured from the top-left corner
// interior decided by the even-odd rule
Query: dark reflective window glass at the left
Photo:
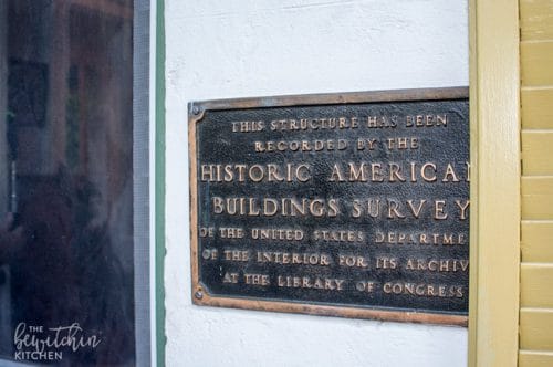
[[[0,365],[134,366],[133,1],[0,0]]]

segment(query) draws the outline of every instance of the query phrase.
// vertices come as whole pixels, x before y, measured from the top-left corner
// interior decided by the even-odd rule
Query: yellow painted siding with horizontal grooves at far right
[[[553,0],[520,0],[519,366],[553,366]]]

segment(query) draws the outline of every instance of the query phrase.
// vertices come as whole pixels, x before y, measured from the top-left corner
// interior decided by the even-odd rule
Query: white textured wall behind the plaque
[[[467,329],[199,307],[187,103],[468,85],[466,0],[166,0],[167,366],[466,366]]]

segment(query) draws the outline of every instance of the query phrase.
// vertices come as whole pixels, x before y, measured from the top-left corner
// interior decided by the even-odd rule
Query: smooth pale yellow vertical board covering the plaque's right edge
[[[518,0],[470,0],[469,365],[517,366],[520,269]]]

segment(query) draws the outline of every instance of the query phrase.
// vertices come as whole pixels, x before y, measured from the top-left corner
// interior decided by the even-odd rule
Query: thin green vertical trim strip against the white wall
[[[154,6],[153,6],[154,7]],[[156,66],[155,66],[155,233],[156,233],[156,366],[165,366],[165,6],[156,0]]]

